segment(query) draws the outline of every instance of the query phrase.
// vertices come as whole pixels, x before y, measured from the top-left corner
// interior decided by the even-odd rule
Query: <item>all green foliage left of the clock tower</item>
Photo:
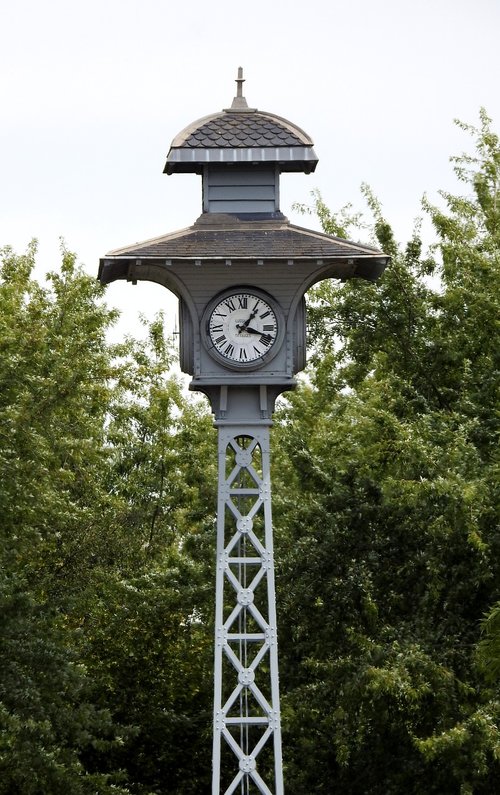
[[[210,529],[214,433],[161,317],[110,345],[102,287],[64,248],[42,286],[35,255],[0,271],[0,792],[199,791],[175,743],[210,742],[211,581],[182,547]]]

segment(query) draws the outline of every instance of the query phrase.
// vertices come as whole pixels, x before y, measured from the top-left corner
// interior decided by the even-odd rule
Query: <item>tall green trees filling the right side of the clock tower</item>
[[[292,793],[486,793],[498,778],[498,694],[474,650],[500,582],[500,148],[485,113],[466,129],[477,155],[454,162],[473,194],[424,201],[433,254],[418,226],[401,250],[365,187],[391,266],[310,301],[309,385],[276,434]],[[327,231],[359,224],[315,207]]]

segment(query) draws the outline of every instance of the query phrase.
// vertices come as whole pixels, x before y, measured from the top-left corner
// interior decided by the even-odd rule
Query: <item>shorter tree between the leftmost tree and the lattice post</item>
[[[102,704],[134,727],[92,763],[126,769],[137,795],[208,791],[211,775],[215,432],[171,366],[161,318],[127,341],[107,477],[133,554],[94,575],[78,618]]]

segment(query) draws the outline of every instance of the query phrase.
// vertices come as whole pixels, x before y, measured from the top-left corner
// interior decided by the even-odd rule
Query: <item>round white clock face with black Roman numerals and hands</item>
[[[228,292],[210,304],[206,317],[209,352],[232,367],[255,367],[272,358],[282,338],[281,315],[267,295]]]

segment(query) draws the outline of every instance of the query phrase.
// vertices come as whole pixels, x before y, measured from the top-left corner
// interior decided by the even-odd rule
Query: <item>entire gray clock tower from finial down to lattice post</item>
[[[277,396],[305,366],[304,296],[316,282],[375,280],[383,252],[290,224],[282,172],[315,170],[309,136],[231,107],[173,140],[165,173],[202,178],[188,229],[116,249],[102,283],[157,282],[179,299],[180,366],[218,429],[212,795],[283,795],[269,432]]]

